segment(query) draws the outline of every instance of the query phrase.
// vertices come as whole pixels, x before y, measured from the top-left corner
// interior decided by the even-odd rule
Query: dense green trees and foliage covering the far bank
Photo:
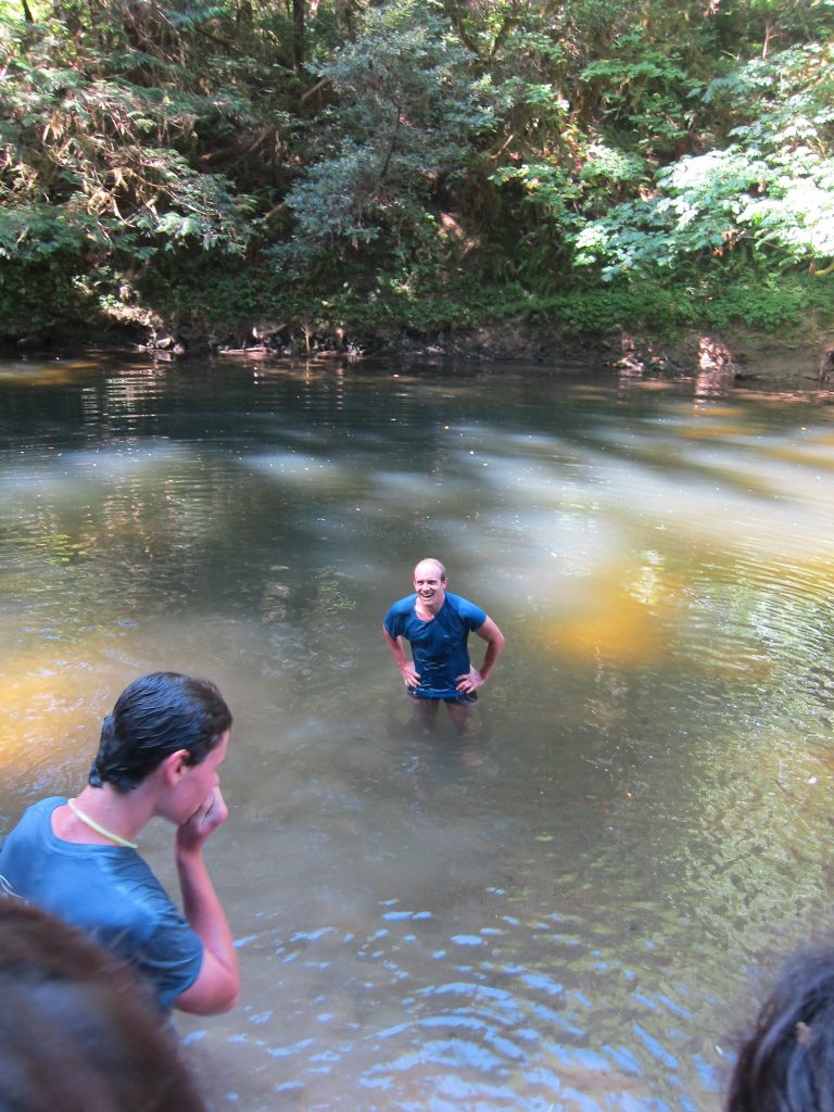
[[[0,314],[831,314],[832,0],[0,0]]]

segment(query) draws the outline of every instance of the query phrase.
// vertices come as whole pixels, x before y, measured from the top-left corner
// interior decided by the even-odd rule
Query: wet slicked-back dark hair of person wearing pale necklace
[[[153,672],[126,687],[105,718],[89,782],[129,792],[178,749],[188,749],[187,764],[200,764],[230,726],[231,712],[209,679]]]

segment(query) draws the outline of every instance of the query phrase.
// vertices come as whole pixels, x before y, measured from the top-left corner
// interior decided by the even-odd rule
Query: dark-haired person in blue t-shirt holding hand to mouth
[[[228,815],[218,770],[231,713],[207,679],[156,672],[105,718],[87,786],[41,800],[0,851],[0,887],[79,927],[132,965],[163,1012],[214,1015],[240,987],[235,944],[202,860]],[[177,828],[185,914],[137,853],[151,818]]]

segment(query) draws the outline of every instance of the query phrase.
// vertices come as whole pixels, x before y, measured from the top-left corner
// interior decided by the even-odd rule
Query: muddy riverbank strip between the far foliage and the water
[[[141,351],[155,359],[187,363],[189,357],[216,356],[277,360],[344,358],[357,363],[378,358],[413,363],[450,360],[467,364],[513,364],[550,371],[610,367],[635,377],[693,377],[726,374],[737,385],[767,389],[828,390],[834,387],[834,327],[794,329],[780,336],[745,329],[719,335],[692,331],[674,340],[657,340],[625,331],[576,336],[550,328],[481,327],[440,332],[388,331],[361,341],[344,334],[305,337],[282,329],[255,327],[239,336],[209,329],[158,329],[109,325],[91,337],[89,328],[56,326],[7,344],[8,358],[61,357],[68,353]]]

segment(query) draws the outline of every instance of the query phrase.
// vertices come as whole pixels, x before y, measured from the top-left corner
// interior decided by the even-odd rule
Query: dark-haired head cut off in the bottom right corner
[[[785,964],[733,1071],[727,1112],[834,1112],[834,949]]]

